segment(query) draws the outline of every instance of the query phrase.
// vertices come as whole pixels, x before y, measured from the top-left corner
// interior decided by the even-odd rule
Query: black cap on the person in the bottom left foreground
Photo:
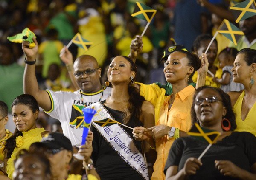
[[[50,132],[42,138],[41,142],[33,144],[46,147],[47,149],[66,149],[68,151],[73,151],[69,138],[59,132]]]

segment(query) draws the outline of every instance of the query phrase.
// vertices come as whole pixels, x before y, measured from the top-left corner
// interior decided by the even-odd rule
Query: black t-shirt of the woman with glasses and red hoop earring
[[[198,158],[208,145],[209,143],[191,136],[178,138],[170,149],[164,172],[170,166],[178,166],[180,171],[188,158]],[[232,132],[222,141],[212,144],[201,158],[203,165],[195,175],[189,176],[189,180],[233,180],[234,178],[219,172],[215,167],[215,160],[230,160],[250,172],[250,167],[256,163],[256,137],[249,132]]]

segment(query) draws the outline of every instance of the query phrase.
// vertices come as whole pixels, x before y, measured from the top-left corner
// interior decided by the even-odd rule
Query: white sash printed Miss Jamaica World
[[[87,108],[92,107],[97,111],[92,118],[92,122],[107,118],[114,120],[113,116],[103,107],[101,102],[96,102]],[[92,123],[92,125],[126,163],[136,170],[145,180],[149,180],[148,168],[144,156],[137,149],[130,135],[119,124],[116,123],[105,127],[101,127],[96,123]]]

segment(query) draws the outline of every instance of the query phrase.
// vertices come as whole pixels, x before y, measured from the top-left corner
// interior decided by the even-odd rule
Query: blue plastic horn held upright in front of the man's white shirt
[[[88,135],[88,131],[90,130],[89,129],[90,123],[92,121],[93,115],[96,113],[96,110],[84,108],[84,109],[82,109],[82,111],[84,113],[84,131],[83,131],[83,135],[82,135],[81,145],[84,145],[85,141],[86,141],[86,137]]]

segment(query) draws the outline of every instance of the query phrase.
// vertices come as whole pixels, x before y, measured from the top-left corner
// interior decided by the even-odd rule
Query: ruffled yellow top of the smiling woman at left
[[[10,179],[12,179],[12,173],[14,172],[14,160],[16,159],[18,152],[21,149],[29,149],[32,143],[40,142],[42,139],[42,132],[44,132],[44,128],[35,128],[22,132],[23,136],[16,137],[16,147],[12,152],[11,158],[8,159],[6,166],[6,173]]]

